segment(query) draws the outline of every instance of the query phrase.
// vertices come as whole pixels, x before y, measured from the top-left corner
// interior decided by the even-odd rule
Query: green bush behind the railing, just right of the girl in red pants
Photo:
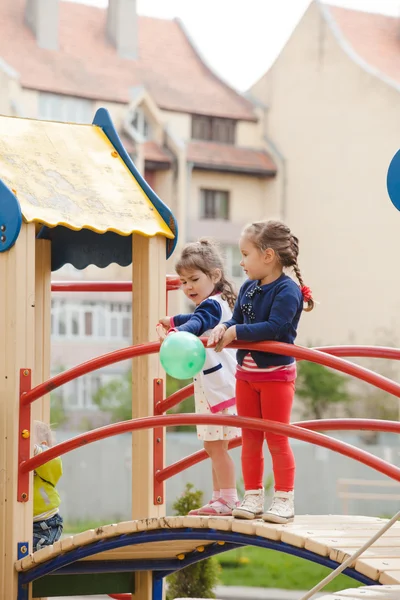
[[[350,401],[347,379],[322,365],[298,363],[296,394],[303,400],[305,416],[322,419],[333,405]]]

